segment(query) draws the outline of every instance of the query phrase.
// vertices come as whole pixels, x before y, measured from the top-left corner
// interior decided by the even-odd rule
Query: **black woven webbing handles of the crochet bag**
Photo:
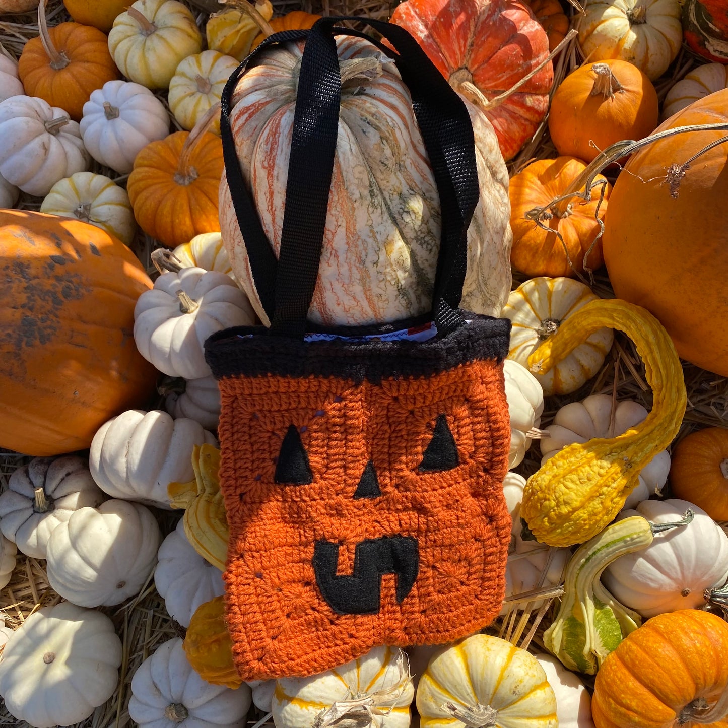
[[[424,146],[440,195],[442,232],[432,297],[432,315],[444,335],[464,325],[458,313],[467,267],[467,229],[478,204],[475,138],[464,102],[451,89],[404,28],[365,17],[323,17],[309,31],[283,31],[264,41],[230,76],[221,99],[221,135],[226,177],[261,304],[271,321],[269,333],[302,339],[313,298],[323,245],[339,127],[341,75],[334,31],[340,20],[359,20],[375,28],[397,54],[392,55],[408,87]],[[296,110],[286,186],[279,258],[273,253],[237,159],[229,114],[243,69],[264,47],[306,38],[298,78]],[[364,36],[366,37],[366,36]]]

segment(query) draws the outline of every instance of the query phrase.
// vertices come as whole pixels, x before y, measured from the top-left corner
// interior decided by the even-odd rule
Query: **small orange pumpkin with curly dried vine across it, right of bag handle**
[[[577,272],[584,272],[585,263],[591,270],[601,266],[601,241],[597,240],[596,244],[594,241],[612,190],[606,179],[598,175],[589,202],[571,197],[552,204],[568,191],[576,193],[584,189],[583,185],[573,189],[573,185],[585,169],[585,163],[574,157],[540,159],[511,178],[508,189],[513,230],[510,261],[515,269],[529,277],[573,277]],[[602,193],[604,198],[600,204]],[[542,207],[547,209],[537,219]]]

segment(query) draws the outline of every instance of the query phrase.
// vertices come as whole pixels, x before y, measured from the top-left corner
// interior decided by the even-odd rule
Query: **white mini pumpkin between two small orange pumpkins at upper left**
[[[141,84],[107,81],[84,103],[80,129],[91,156],[126,175],[143,147],[169,134],[170,116],[164,104]]]

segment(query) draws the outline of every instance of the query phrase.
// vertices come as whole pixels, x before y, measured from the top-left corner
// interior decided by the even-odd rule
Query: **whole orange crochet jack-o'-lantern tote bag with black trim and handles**
[[[388,23],[366,21],[397,50],[386,52],[440,192],[435,303],[424,321],[306,322],[339,119],[333,33],[355,32],[334,20],[266,44],[307,35],[278,259],[229,126],[242,66],[223,94],[226,180],[272,322],[206,344],[221,391],[226,620],[244,680],[320,673],[380,644],[454,641],[491,622],[505,593],[510,322],[459,310],[479,194],[472,126],[414,39]]]

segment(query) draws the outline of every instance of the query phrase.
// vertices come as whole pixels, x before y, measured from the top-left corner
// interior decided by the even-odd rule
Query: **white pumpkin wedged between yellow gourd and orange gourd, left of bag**
[[[225,593],[222,571],[194,550],[184,534],[183,519],[159,547],[154,586],[165,600],[167,614],[183,627],[189,627],[200,604]]]

